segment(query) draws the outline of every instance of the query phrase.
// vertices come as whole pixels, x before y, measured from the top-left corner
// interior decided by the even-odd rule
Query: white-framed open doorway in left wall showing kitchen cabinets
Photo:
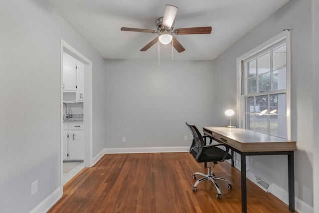
[[[74,176],[81,170],[81,167],[92,166],[92,62],[62,39],[60,53],[60,186],[63,189],[63,185],[65,184],[63,180],[63,176],[65,176],[63,172],[64,161],[83,161],[67,176],[68,180],[72,178],[70,175]],[[65,56],[69,57],[70,60],[74,59],[74,61],[77,61],[74,76],[72,76],[72,72],[68,76],[65,76],[65,73],[63,73],[63,69],[65,68],[63,65],[66,65],[65,69],[68,66],[64,63],[67,61]],[[76,74],[77,71],[78,75]],[[80,71],[82,71],[82,76]],[[78,79],[81,88],[77,89],[77,85],[72,88],[72,78],[76,81],[79,77],[80,79],[82,78],[82,84],[81,80]],[[63,84],[66,79],[71,79],[69,85]]]

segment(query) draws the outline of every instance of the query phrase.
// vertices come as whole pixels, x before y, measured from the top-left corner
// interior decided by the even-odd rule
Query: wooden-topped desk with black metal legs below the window
[[[241,155],[241,210],[247,213],[246,156],[287,155],[289,211],[295,212],[294,151],[296,141],[269,136],[246,129],[227,127],[203,127],[205,135],[215,141],[227,144],[231,150]],[[234,161],[232,159],[232,166]]]

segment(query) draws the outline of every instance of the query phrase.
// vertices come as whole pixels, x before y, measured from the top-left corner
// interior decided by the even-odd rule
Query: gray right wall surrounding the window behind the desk
[[[292,139],[297,140],[295,152],[296,197],[310,206],[313,201],[313,84],[311,0],[290,0],[262,24],[232,45],[214,60],[214,93],[216,112],[236,106],[236,58],[262,44],[285,28],[292,28]],[[220,113],[214,114],[214,125],[223,125]],[[249,169],[288,191],[287,157],[252,157]],[[249,161],[248,161],[249,162]],[[318,166],[318,165],[317,165]]]

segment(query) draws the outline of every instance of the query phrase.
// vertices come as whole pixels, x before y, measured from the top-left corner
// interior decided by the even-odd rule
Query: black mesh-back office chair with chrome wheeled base
[[[200,175],[203,176],[203,178],[197,180],[193,186],[193,192],[197,191],[197,185],[205,180],[210,180],[216,190],[217,190],[217,198],[221,199],[221,192],[220,192],[220,188],[218,186],[218,184],[215,182],[215,180],[223,180],[226,181],[228,183],[228,189],[233,189],[233,187],[231,186],[230,182],[225,179],[225,178],[221,178],[221,177],[216,177],[214,175],[214,172],[211,171],[211,167],[210,167],[210,162],[213,162],[213,164],[217,164],[217,162],[222,162],[226,159],[231,159],[231,155],[228,154],[229,151],[229,147],[225,144],[209,144],[206,145],[203,136],[200,134],[200,132],[198,131],[198,129],[196,128],[196,126],[194,125],[189,125],[186,122],[186,125],[188,126],[188,128],[190,129],[192,135],[193,135],[193,142],[190,146],[190,150],[189,152],[192,154],[192,156],[195,158],[195,160],[198,163],[205,163],[207,162],[207,175],[200,173],[200,172],[195,172],[193,174],[193,180],[196,180],[196,175]],[[210,142],[211,143],[211,142]],[[218,148],[219,147],[225,147],[225,151]]]

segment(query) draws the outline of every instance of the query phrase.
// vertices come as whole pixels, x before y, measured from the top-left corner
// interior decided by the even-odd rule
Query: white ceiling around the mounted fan
[[[140,49],[158,34],[121,31],[121,27],[157,30],[164,5],[178,7],[174,28],[212,26],[211,34],[175,35],[186,49],[174,59],[212,60],[289,0],[48,0],[108,59],[158,59],[159,45]],[[160,44],[160,59],[171,45]]]

